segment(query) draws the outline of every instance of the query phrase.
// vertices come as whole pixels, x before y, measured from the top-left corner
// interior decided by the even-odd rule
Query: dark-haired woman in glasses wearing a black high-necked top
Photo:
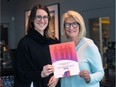
[[[50,14],[44,5],[30,13],[27,34],[20,40],[15,60],[15,87],[60,87],[54,78],[49,45],[59,43],[50,32]]]

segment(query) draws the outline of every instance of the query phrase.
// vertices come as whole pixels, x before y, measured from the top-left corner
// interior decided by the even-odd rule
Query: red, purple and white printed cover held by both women
[[[78,57],[74,42],[49,45],[55,78],[79,74]]]

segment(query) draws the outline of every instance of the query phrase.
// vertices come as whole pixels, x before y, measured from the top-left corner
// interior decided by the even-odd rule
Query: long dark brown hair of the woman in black
[[[49,13],[47,6],[42,5],[42,4],[35,5],[32,8],[31,13],[30,13],[30,17],[29,17],[29,21],[28,21],[28,25],[27,25],[27,33],[29,33],[31,29],[35,28],[34,19],[35,19],[36,12],[38,9],[43,9],[44,11],[46,11],[48,14],[48,17],[49,17],[48,21],[50,21],[50,13]],[[49,31],[49,22],[48,22],[48,26],[44,30],[44,35],[46,35],[47,37],[51,37],[50,31]]]

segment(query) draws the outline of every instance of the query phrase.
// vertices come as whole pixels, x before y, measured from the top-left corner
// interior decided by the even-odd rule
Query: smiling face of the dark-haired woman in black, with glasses
[[[37,30],[42,35],[44,34],[44,30],[48,26],[48,14],[46,11],[42,9],[38,9],[36,11],[34,26],[35,30]]]

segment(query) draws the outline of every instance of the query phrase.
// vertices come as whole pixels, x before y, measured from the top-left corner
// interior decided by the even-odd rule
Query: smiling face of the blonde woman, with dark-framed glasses
[[[69,38],[78,38],[79,23],[73,17],[66,18],[64,28]]]

